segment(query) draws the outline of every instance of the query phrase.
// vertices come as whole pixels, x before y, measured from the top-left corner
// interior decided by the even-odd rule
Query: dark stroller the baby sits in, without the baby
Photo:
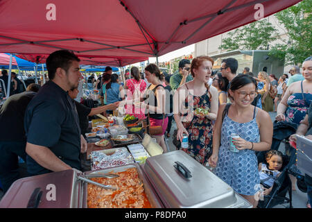
[[[283,155],[283,166],[281,174],[275,179],[272,191],[268,196],[264,196],[263,200],[259,200],[259,208],[272,208],[279,204],[289,203],[289,208],[293,208],[292,204],[292,185],[289,178],[290,169],[296,161],[296,151],[292,148],[291,155]],[[261,182],[260,182],[261,183]],[[288,198],[286,194],[288,192]]]

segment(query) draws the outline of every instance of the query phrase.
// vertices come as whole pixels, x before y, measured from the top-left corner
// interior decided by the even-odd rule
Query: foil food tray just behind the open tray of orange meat
[[[135,162],[128,149],[110,148],[103,151],[91,152],[92,170],[105,169],[107,167],[119,167]]]

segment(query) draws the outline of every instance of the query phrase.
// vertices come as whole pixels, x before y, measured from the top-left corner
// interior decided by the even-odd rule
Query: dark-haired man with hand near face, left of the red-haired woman
[[[183,59],[179,62],[179,70],[175,71],[173,76],[170,78],[170,85],[173,90],[177,89],[184,83],[193,80],[190,75],[191,72],[191,62],[189,60]]]

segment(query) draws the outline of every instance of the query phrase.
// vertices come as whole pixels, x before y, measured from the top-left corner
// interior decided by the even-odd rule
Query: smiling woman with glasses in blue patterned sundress
[[[234,103],[220,105],[214,128],[213,151],[209,166],[216,175],[254,207],[259,191],[258,161],[255,151],[268,151],[273,125],[268,112],[251,105],[257,83],[248,75],[236,76],[229,87]],[[232,138],[235,133],[239,137]]]

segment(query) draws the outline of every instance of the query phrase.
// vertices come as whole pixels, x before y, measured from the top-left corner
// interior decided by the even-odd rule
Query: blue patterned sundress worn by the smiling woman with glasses
[[[216,176],[231,186],[234,191],[243,195],[254,195],[259,190],[260,178],[258,161],[254,151],[243,150],[238,153],[229,151],[231,133],[237,133],[248,142],[260,141],[259,127],[254,113],[254,119],[248,123],[238,123],[227,114],[221,129],[221,141],[216,166]]]

